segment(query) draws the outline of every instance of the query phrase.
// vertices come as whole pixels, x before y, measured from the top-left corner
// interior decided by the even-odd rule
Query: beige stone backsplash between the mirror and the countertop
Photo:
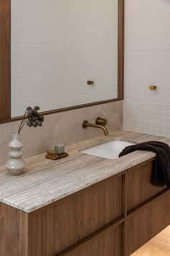
[[[122,101],[48,115],[45,116],[43,126],[36,129],[25,126],[21,133],[24,158],[53,149],[53,145],[57,142],[71,145],[102,135],[103,132],[99,129],[81,127],[84,120],[94,122],[98,116],[108,120],[109,132],[122,129]],[[17,132],[18,127],[19,121],[0,124],[0,165],[6,163],[8,159],[7,145],[11,140],[12,132]]]

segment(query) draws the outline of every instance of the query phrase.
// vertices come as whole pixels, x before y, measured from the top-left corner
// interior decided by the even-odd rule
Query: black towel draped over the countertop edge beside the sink
[[[170,148],[164,142],[148,141],[126,147],[119,156],[127,155],[135,150],[146,150],[156,153],[151,182],[156,187],[166,185],[170,188]]]

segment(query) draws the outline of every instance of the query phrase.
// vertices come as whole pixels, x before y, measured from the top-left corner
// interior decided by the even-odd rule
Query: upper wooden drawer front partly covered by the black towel
[[[128,211],[166,189],[166,187],[155,187],[151,184],[152,171],[153,161],[134,166],[128,170],[126,184]]]

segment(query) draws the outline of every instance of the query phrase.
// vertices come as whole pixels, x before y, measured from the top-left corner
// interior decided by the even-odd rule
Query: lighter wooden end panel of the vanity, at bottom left
[[[0,203],[0,256],[28,256],[29,215]]]

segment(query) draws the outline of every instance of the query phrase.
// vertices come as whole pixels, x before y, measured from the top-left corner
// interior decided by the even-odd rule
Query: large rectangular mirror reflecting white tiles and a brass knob
[[[26,106],[53,113],[122,99],[122,0],[7,2],[9,119]]]

